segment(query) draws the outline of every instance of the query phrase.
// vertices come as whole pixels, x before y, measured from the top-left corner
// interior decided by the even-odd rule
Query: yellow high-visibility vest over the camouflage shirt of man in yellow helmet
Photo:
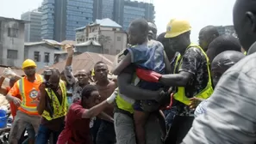
[[[209,75],[207,86],[200,93],[197,93],[197,95],[195,95],[194,97],[201,98],[201,99],[208,99],[209,96],[214,91],[213,87],[212,87],[211,77],[210,77],[209,58],[207,57],[206,53],[203,51],[203,49],[199,45],[190,44],[187,49],[189,49],[190,47],[196,47],[200,51],[203,52],[203,55],[204,55],[204,57],[206,58],[206,61],[207,61],[207,71],[208,71],[208,75]],[[178,68],[178,62],[179,62],[180,59],[181,59],[181,61],[179,63],[179,67],[181,66],[181,63],[182,63],[182,57],[181,57],[181,55],[178,55],[178,58],[176,59],[176,63],[175,63],[175,66],[174,66],[174,74],[176,73],[176,69]],[[178,92],[176,92],[173,95],[173,98],[178,100],[179,102],[185,104],[185,105],[190,104],[190,99],[187,98],[186,95],[185,95],[185,87],[178,87]]]

